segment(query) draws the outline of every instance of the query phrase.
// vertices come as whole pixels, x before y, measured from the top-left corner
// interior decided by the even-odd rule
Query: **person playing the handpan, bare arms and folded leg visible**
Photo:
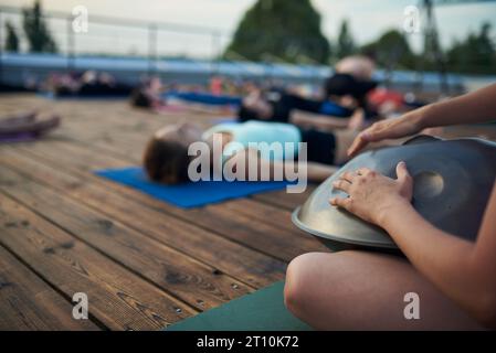
[[[423,128],[494,120],[495,97],[496,84],[380,121],[358,135],[349,154]],[[334,188],[349,196],[330,203],[382,227],[407,258],[358,250],[298,256],[286,274],[287,308],[321,330],[496,329],[496,184],[471,243],[435,228],[415,211],[404,162],[397,175],[369,169],[345,173]],[[418,320],[403,314],[410,292],[419,298]]]

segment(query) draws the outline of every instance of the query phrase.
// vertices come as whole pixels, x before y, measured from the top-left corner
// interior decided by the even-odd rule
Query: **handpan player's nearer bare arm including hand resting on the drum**
[[[333,199],[331,204],[384,228],[446,297],[481,323],[496,328],[496,188],[473,244],[425,221],[410,203],[412,178],[404,163],[398,164],[397,174],[393,180],[366,168],[345,173],[334,186],[349,197]]]

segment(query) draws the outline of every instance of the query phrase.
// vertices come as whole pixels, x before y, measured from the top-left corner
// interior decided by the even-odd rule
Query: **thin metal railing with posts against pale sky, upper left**
[[[84,55],[148,58],[149,69],[163,57],[201,58],[217,62],[232,34],[213,28],[170,22],[120,19],[88,13],[88,31],[73,30],[75,17],[60,11],[43,11],[42,18],[55,41],[57,52],[67,58]],[[20,52],[29,52],[21,8],[0,7],[0,54],[6,51],[6,24],[19,40]]]

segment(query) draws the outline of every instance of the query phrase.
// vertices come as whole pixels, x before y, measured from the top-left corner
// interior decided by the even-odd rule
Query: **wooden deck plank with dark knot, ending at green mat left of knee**
[[[0,190],[199,310],[218,307],[252,291],[252,288],[215,268],[146,237],[59,192],[23,180],[21,175],[17,180],[15,185],[0,186]]]

